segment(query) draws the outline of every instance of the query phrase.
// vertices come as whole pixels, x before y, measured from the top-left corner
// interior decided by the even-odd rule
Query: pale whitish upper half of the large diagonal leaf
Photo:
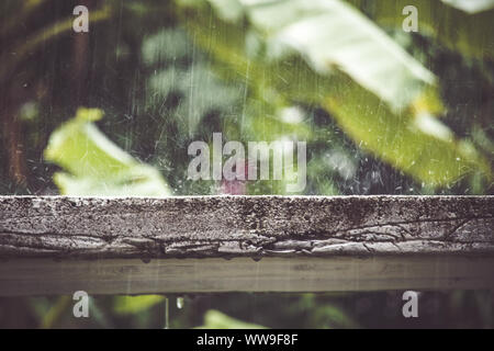
[[[408,105],[425,86],[434,84],[430,71],[343,1],[242,2],[254,3],[244,9],[256,30],[266,34],[268,54],[273,58],[290,47],[316,71],[330,75],[341,70],[393,109]]]

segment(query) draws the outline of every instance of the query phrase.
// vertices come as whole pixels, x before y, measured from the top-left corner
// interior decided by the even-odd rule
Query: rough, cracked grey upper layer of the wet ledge
[[[494,254],[494,196],[0,196],[0,257]]]

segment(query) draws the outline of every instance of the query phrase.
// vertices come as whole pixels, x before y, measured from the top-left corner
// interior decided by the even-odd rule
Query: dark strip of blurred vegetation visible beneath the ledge
[[[2,297],[0,320],[2,328],[494,328],[489,291],[423,292],[419,317],[408,319],[402,294],[170,295],[168,320],[156,295],[91,297],[89,318],[74,318],[71,296]]]

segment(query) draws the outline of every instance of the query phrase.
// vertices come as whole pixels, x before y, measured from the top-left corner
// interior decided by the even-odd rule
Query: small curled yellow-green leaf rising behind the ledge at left
[[[64,195],[166,196],[167,183],[150,166],[135,160],[109,140],[92,123],[100,110],[79,109],[75,118],[56,129],[45,158],[67,172],[54,181]]]

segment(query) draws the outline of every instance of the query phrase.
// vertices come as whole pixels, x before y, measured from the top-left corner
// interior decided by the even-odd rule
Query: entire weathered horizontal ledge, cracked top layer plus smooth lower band
[[[493,196],[4,196],[0,295],[494,288],[493,229]]]

